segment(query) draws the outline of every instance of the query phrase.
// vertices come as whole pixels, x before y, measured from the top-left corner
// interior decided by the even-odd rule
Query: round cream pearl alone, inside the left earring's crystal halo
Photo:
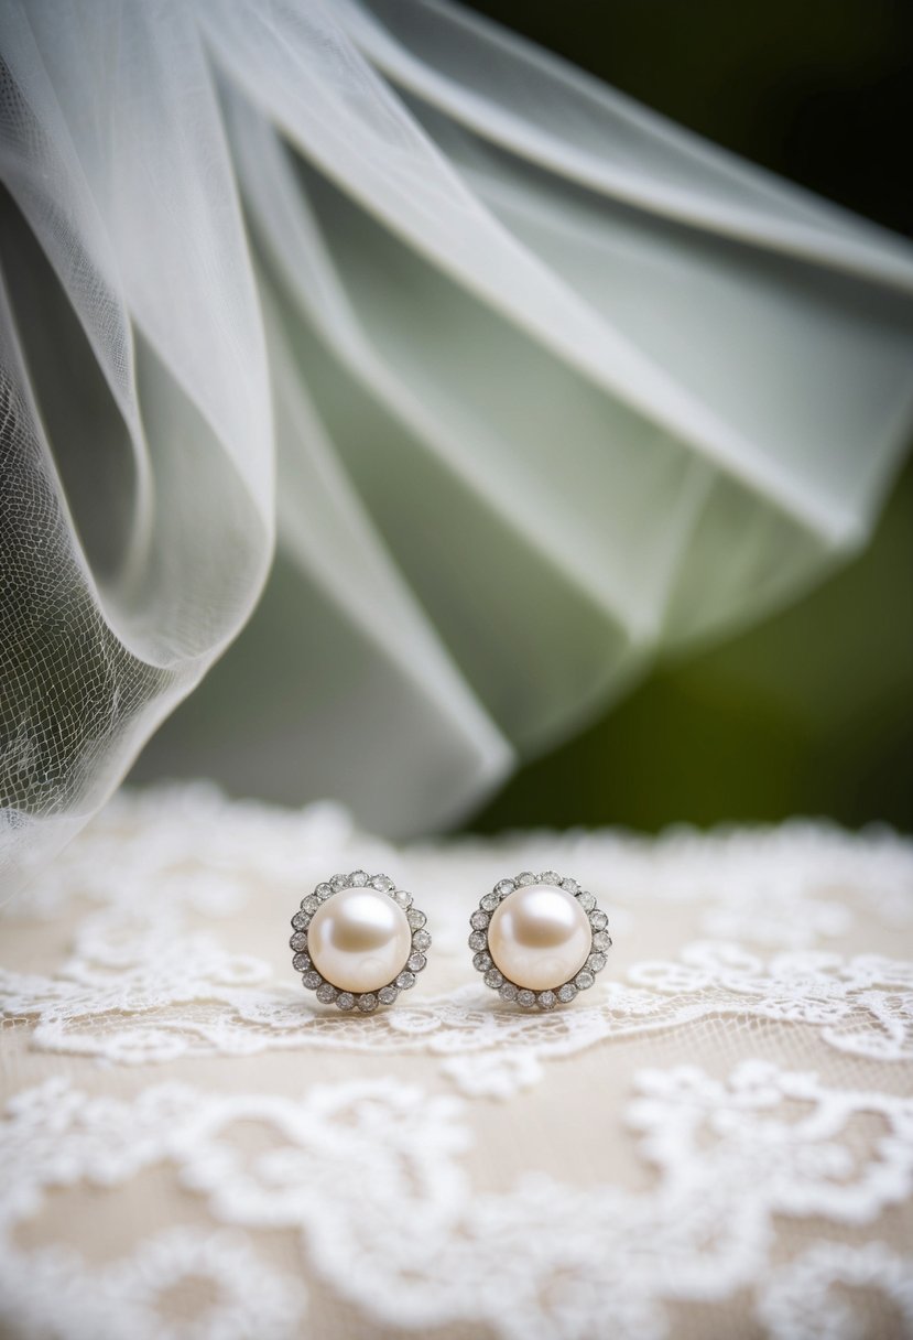
[[[308,954],[343,992],[376,992],[406,967],[412,931],[406,913],[375,888],[343,888],[308,926]]]

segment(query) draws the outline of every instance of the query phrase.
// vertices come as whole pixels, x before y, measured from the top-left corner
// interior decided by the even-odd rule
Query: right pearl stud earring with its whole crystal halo
[[[576,879],[523,871],[499,880],[473,913],[473,965],[502,1000],[554,1009],[592,986],[605,967],[608,923]]]

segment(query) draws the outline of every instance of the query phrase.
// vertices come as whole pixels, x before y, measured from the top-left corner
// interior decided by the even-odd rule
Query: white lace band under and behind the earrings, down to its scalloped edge
[[[546,846],[537,835],[523,852],[535,864]],[[886,832],[851,838],[790,825],[711,838],[675,832],[657,844],[576,835],[552,839],[553,858],[556,846],[598,888],[621,939],[644,942],[640,926],[649,930],[668,906],[692,910],[697,929],[740,927],[764,947],[780,931],[790,946],[833,938],[858,915],[846,899],[822,898],[838,887],[838,872],[842,888],[855,880],[855,902],[870,921],[893,930],[912,915],[913,846]],[[56,972],[0,970],[0,1009],[7,1020],[28,1021],[33,1048],[118,1064],[297,1048],[420,1051],[440,1057],[442,1073],[473,1096],[509,1097],[535,1083],[552,1057],[712,1017],[810,1025],[827,1047],[872,1060],[913,1056],[909,963],[794,947],[762,957],[719,939],[641,959],[621,981],[549,1016],[501,1006],[473,982],[400,1001],[378,1018],[315,1013],[284,961],[288,907],[315,868],[325,875],[356,854],[374,858],[365,864],[407,866],[416,887],[431,891],[435,957],[459,980],[461,967],[470,976],[471,903],[447,886],[436,891],[440,868],[451,883],[481,880],[482,860],[490,868],[493,852],[499,863],[509,850],[458,843],[396,855],[359,836],[336,807],[288,813],[229,803],[208,787],[122,796],[64,854],[37,899],[12,914],[62,917],[90,899]],[[273,961],[221,943],[220,927],[230,937],[252,907],[276,926]],[[205,930],[195,929],[201,918]]]

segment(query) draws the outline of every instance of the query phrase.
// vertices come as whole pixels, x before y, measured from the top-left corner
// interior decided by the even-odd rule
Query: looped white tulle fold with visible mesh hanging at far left
[[[7,206],[4,272],[24,344],[3,364],[0,531],[0,867],[16,883],[90,817],[248,618],[272,553],[273,449],[257,297],[195,20],[158,3],[11,0],[1,21],[0,163],[21,213]],[[24,224],[44,269],[23,260]],[[55,285],[107,414],[80,403],[79,332],[44,320],[39,299]],[[90,472],[76,515],[62,473]],[[106,494],[124,453],[133,474]],[[92,563],[111,531],[123,543]]]

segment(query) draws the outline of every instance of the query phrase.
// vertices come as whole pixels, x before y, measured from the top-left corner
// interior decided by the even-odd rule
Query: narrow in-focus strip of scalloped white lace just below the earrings
[[[548,1016],[491,1004],[467,984],[376,1018],[315,1013],[270,965],[226,953],[203,934],[119,915],[88,918],[55,977],[0,970],[0,1013],[29,1024],[33,1048],[145,1065],[181,1056],[249,1056],[324,1048],[423,1051],[471,1095],[510,1096],[541,1063],[700,1020],[805,1024],[838,1051],[878,1061],[913,1059],[913,965],[876,954],[803,951],[764,963],[735,945],[697,942],[675,961],[643,961],[594,1004]]]

